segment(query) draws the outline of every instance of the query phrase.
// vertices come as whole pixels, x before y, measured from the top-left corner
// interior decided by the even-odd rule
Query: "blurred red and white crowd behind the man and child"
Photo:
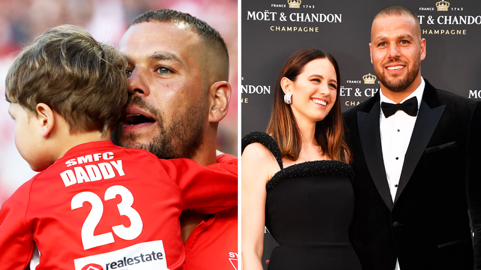
[[[0,0],[0,204],[36,174],[15,147],[15,122],[4,98],[8,68],[22,47],[45,30],[65,23],[80,25],[97,40],[117,46],[132,19],[161,8],[190,13],[224,38],[232,96],[229,112],[219,124],[217,145],[219,150],[237,155],[237,0]]]

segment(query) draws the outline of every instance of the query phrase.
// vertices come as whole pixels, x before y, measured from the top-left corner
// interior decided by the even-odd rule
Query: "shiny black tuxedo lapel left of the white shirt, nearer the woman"
[[[357,125],[359,128],[361,147],[369,173],[382,200],[384,200],[386,206],[391,210],[393,205],[392,197],[389,191],[386,170],[384,169],[384,161],[382,158],[381,133],[379,130],[380,109],[381,106],[378,100],[369,113],[358,111]]]

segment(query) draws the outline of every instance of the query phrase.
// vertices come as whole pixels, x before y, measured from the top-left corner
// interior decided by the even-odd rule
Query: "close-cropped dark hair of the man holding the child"
[[[197,33],[203,39],[203,41],[207,43],[208,46],[213,46],[222,53],[225,62],[225,68],[228,74],[229,54],[224,39],[222,36],[220,36],[217,30],[212,28],[212,26],[207,24],[205,21],[198,19],[189,13],[183,13],[171,9],[158,9],[146,11],[138,15],[136,18],[134,18],[134,20],[132,20],[132,22],[129,23],[127,29],[137,23],[149,21],[185,24],[189,29]]]

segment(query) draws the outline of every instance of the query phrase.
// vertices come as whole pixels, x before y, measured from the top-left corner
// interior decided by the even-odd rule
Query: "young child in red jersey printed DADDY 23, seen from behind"
[[[204,167],[110,141],[125,67],[72,25],[46,31],[10,67],[15,144],[41,172],[2,205],[0,268],[24,270],[37,244],[36,269],[181,269],[181,211],[237,205],[236,158]]]

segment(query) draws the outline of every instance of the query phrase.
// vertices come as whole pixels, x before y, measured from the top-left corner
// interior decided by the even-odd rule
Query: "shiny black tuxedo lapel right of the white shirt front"
[[[446,105],[441,105],[431,109],[426,102],[424,102],[424,97],[421,100],[416,123],[412,130],[411,140],[409,141],[409,146],[404,156],[404,164],[402,165],[401,177],[399,178],[399,186],[396,191],[394,203],[396,203],[402,190],[404,190],[404,187],[411,178],[445,107]]]

